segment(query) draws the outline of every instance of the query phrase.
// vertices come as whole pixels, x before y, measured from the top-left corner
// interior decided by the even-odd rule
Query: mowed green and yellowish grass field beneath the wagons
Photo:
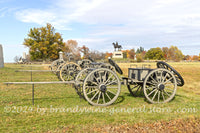
[[[136,63],[135,63],[136,64]],[[144,63],[137,63],[141,66]],[[156,63],[150,63],[156,68]],[[200,63],[169,63],[184,78],[175,99],[166,104],[149,104],[144,97],[133,97],[122,85],[117,101],[107,107],[94,107],[76,94],[73,85],[35,85],[32,105],[31,85],[5,85],[3,82],[30,81],[30,69],[5,64],[0,69],[0,132],[86,132],[93,128],[136,123],[153,123],[200,116]],[[130,64],[120,64],[127,75]],[[47,69],[47,67],[32,67]],[[59,81],[51,72],[33,73],[33,81]],[[98,131],[98,130],[97,130]]]

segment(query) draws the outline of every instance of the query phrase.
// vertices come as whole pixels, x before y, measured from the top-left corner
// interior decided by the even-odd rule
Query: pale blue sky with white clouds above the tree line
[[[4,61],[28,49],[22,44],[33,27],[51,23],[65,41],[92,50],[178,46],[200,53],[199,0],[0,0],[0,44]]]

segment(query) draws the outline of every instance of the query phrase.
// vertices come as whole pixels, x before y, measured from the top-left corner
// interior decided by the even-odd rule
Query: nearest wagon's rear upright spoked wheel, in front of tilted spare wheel
[[[150,103],[166,103],[176,94],[177,82],[174,74],[167,69],[158,68],[145,78],[143,90]]]

